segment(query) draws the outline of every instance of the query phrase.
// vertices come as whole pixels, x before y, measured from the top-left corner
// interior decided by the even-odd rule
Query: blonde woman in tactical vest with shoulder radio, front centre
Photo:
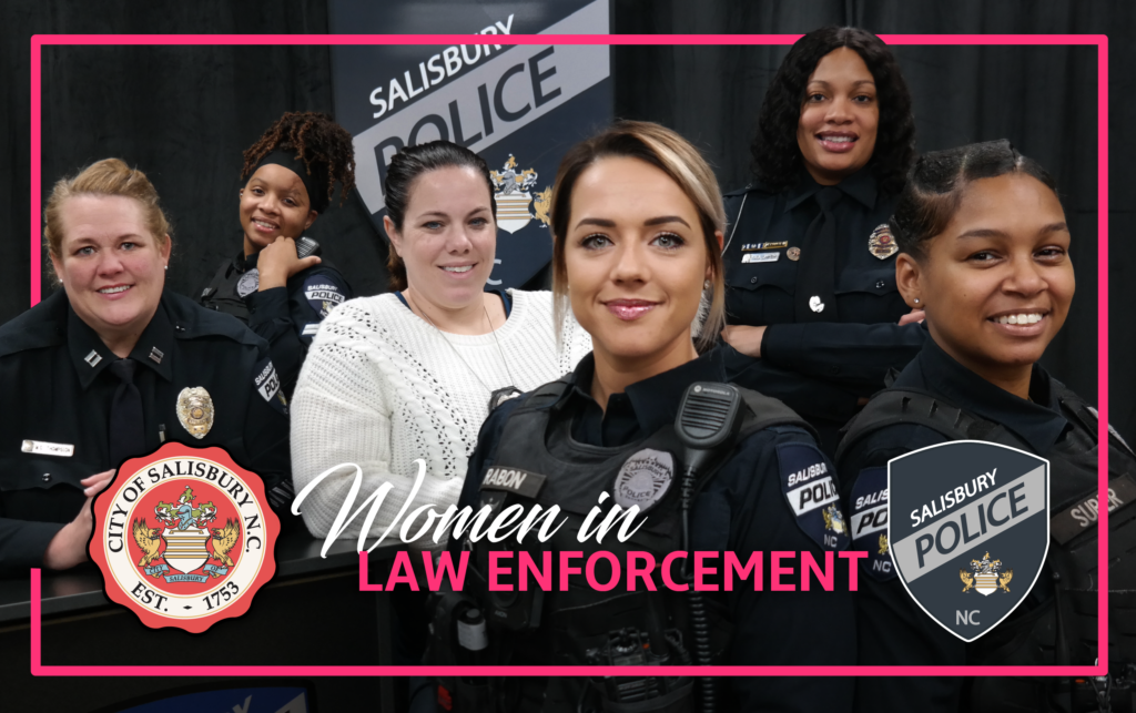
[[[699,326],[712,342],[721,325],[722,227],[713,173],[670,129],[621,121],[567,153],[552,198],[553,291],[558,310],[570,307],[594,351],[563,379],[490,414],[461,501],[494,512],[557,505],[567,523],[545,544],[532,537],[454,544],[473,548],[471,571],[463,592],[436,607],[432,662],[851,663],[847,592],[754,592],[746,580],[720,595],[674,593],[662,590],[659,571],[658,592],[623,585],[600,592],[590,582],[612,574],[600,571],[602,562],[594,577],[561,573],[565,590],[502,595],[484,584],[491,548],[583,551],[585,559],[604,550],[619,560],[635,551],[662,562],[691,550],[734,551],[743,560],[754,551],[809,552],[822,560],[846,546],[833,469],[808,425],[780,402],[724,384],[719,352],[699,356]],[[676,425],[695,385],[701,396],[733,397],[738,413],[737,429],[702,452],[682,445],[686,427]],[[500,469],[528,473],[524,486],[502,483]],[[804,490],[830,496],[797,510]],[[637,506],[646,523],[626,542],[577,538],[598,504]],[[693,563],[674,562],[671,579],[690,581]],[[633,656],[619,653],[625,646]],[[844,682],[820,691],[744,679],[694,686],[660,674],[641,683],[443,680],[453,711],[486,710],[479,706],[488,699],[504,702],[502,711],[616,710],[609,706],[626,704],[633,688],[643,698],[636,711],[707,710],[716,698],[720,711],[841,711],[851,702]]]

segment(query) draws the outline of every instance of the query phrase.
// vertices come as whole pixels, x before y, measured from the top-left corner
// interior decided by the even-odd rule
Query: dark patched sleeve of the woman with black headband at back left
[[[319,322],[350,297],[346,280],[331,268],[301,275],[289,280],[287,287],[252,292],[244,297],[249,328],[268,342],[286,397],[292,397]]]

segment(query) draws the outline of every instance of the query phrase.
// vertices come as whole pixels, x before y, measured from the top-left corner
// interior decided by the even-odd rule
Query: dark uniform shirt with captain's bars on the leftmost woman
[[[80,480],[110,462],[110,403],[118,358],[60,290],[0,327],[0,576],[42,567],[56,532],[85,502]],[[268,345],[237,321],[166,291],[131,352],[147,452],[177,441],[222,446],[266,490],[289,477],[286,406]],[[178,421],[178,393],[202,386],[214,422],[200,441]],[[27,443],[37,447],[27,452]],[[53,445],[66,448],[53,448]],[[69,455],[56,454],[62,451]]]

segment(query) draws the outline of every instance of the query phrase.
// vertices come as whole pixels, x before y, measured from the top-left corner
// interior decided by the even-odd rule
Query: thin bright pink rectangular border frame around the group
[[[45,45],[195,45],[195,44],[792,44],[801,35],[33,35],[32,49],[32,201],[31,304],[40,301],[41,245],[41,48]],[[1095,45],[1097,48],[1097,404],[1100,422],[1109,419],[1109,39],[1106,35],[880,35],[884,42],[947,45]],[[1099,502],[1108,502],[1108,430],[1101,430]],[[1108,673],[1109,512],[1097,522],[1100,547],[1099,662],[1095,666],[674,666],[676,676],[1069,676]],[[42,663],[40,570],[32,570],[33,676],[653,676],[655,666],[49,666]]]

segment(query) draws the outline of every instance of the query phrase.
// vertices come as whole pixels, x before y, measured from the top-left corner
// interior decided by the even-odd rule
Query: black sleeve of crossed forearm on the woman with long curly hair
[[[825,379],[870,396],[884,388],[892,367],[902,369],[927,339],[922,325],[793,324],[770,325],[761,356],[776,367]]]

